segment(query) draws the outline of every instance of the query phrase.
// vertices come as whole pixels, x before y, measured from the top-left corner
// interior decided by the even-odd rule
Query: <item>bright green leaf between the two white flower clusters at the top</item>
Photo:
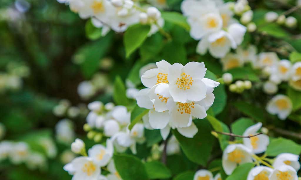
[[[183,27],[187,31],[190,30],[190,26],[186,21],[186,17],[178,12],[162,12],[162,17],[164,20],[174,23],[178,26]]]

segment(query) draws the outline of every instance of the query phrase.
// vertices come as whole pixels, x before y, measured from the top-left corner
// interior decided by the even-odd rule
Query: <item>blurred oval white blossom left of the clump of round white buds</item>
[[[62,119],[55,125],[56,139],[66,145],[70,145],[75,139],[74,124],[69,119]]]

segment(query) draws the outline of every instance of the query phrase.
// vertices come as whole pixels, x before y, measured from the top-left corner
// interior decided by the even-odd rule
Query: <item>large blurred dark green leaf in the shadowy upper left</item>
[[[81,47],[73,56],[73,59],[80,59],[81,71],[86,79],[89,79],[99,68],[99,62],[111,45],[113,34],[109,33],[99,40]]]

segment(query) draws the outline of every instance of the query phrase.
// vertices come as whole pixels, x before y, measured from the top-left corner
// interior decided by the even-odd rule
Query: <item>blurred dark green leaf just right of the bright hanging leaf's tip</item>
[[[156,33],[147,38],[140,47],[141,58],[146,61],[154,58],[163,48],[163,37],[160,33]]]

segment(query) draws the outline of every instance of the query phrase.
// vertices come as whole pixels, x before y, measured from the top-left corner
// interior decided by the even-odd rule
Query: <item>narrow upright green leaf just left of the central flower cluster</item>
[[[119,76],[115,78],[113,99],[117,105],[129,104],[129,99],[126,97],[126,87]]]

